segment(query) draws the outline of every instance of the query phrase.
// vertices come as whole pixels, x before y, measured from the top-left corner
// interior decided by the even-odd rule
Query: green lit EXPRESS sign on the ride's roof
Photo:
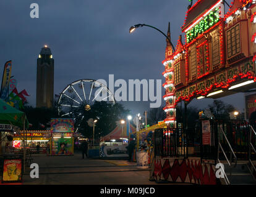
[[[187,31],[187,43],[191,42],[198,35],[207,31],[211,26],[215,25],[220,21],[220,9],[216,8],[214,11],[210,12],[210,14],[206,15],[197,25],[194,26],[191,30]]]

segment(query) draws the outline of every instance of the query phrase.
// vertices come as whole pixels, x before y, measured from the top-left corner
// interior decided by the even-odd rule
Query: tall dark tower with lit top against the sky
[[[54,59],[51,49],[41,49],[37,59],[36,107],[53,107]]]

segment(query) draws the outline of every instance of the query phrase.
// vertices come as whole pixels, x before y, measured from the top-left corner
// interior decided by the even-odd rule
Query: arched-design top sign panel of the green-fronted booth
[[[52,118],[51,132],[74,132],[74,119],[72,118]]]

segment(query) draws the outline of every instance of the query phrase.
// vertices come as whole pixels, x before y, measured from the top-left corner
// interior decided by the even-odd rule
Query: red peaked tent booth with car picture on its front
[[[134,132],[135,127],[130,124],[130,132]],[[127,158],[127,146],[129,141],[129,126],[121,126],[118,124],[117,127],[105,135],[100,142],[100,157],[118,157]]]

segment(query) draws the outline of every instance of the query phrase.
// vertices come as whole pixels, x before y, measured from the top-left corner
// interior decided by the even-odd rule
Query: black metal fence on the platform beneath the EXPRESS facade
[[[228,143],[224,140],[226,135],[237,158],[247,160],[249,134],[249,124],[238,120],[210,120],[210,143],[207,145],[203,143],[201,121],[198,121],[194,128],[189,129],[156,129],[154,132],[155,155],[172,158],[197,156],[216,161],[218,142],[221,143],[226,154],[231,154]],[[252,143],[256,145],[255,137],[252,138]],[[221,153],[220,158],[224,159]],[[255,158],[255,155],[252,155],[252,158]]]

